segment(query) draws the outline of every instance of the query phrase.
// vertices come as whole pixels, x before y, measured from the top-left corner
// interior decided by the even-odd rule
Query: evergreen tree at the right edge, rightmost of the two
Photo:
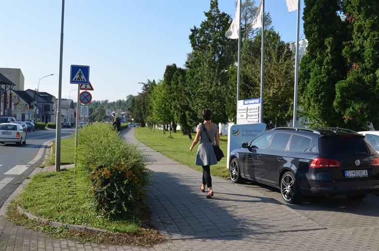
[[[372,122],[379,130],[379,2],[345,0],[344,12],[352,33],[343,50],[349,72],[337,83],[334,105],[347,127],[362,130]]]

